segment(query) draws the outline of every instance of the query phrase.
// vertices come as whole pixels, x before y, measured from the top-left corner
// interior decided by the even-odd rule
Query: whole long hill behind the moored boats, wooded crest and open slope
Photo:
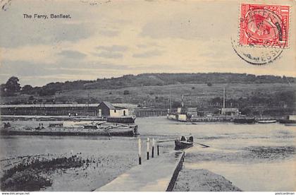
[[[66,88],[66,86],[68,86]],[[72,86],[72,87],[71,87]],[[226,106],[242,109],[261,107],[292,113],[295,111],[295,78],[280,76],[250,76],[234,73],[160,73],[49,83],[32,88],[40,93],[20,90],[14,96],[1,97],[5,104],[97,103],[126,102],[140,107],[173,107],[180,105],[184,95],[187,107],[213,110],[222,105],[226,88]],[[276,111],[279,112],[279,111]]]

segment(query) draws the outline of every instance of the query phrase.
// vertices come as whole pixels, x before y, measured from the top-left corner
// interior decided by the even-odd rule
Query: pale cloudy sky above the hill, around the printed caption
[[[254,66],[231,45],[238,39],[239,1],[4,0],[2,6],[0,83],[11,76],[21,85],[44,85],[164,72],[296,76],[295,10],[289,47],[273,63]]]

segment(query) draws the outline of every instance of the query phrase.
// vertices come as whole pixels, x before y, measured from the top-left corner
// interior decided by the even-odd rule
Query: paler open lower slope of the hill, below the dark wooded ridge
[[[101,101],[126,102],[140,107],[169,107],[169,93],[173,107],[180,106],[184,95],[185,106],[199,107],[203,110],[220,108],[223,103],[223,88],[226,88],[226,106],[240,110],[261,107],[275,112],[292,113],[295,108],[296,84],[261,83],[261,84],[178,84],[164,86],[128,87],[119,89],[67,90],[56,95],[18,95],[4,97],[3,102],[10,104],[35,103],[97,103]],[[128,94],[125,92],[128,91]]]

